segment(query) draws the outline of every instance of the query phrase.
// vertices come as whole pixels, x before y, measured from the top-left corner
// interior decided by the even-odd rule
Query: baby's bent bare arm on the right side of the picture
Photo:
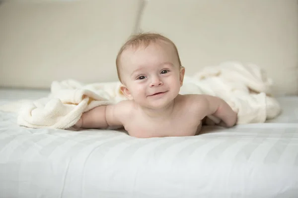
[[[225,127],[232,127],[236,124],[237,113],[223,99],[209,95],[199,95],[198,97],[200,98],[198,107],[203,118],[213,115],[221,119],[219,125]]]

